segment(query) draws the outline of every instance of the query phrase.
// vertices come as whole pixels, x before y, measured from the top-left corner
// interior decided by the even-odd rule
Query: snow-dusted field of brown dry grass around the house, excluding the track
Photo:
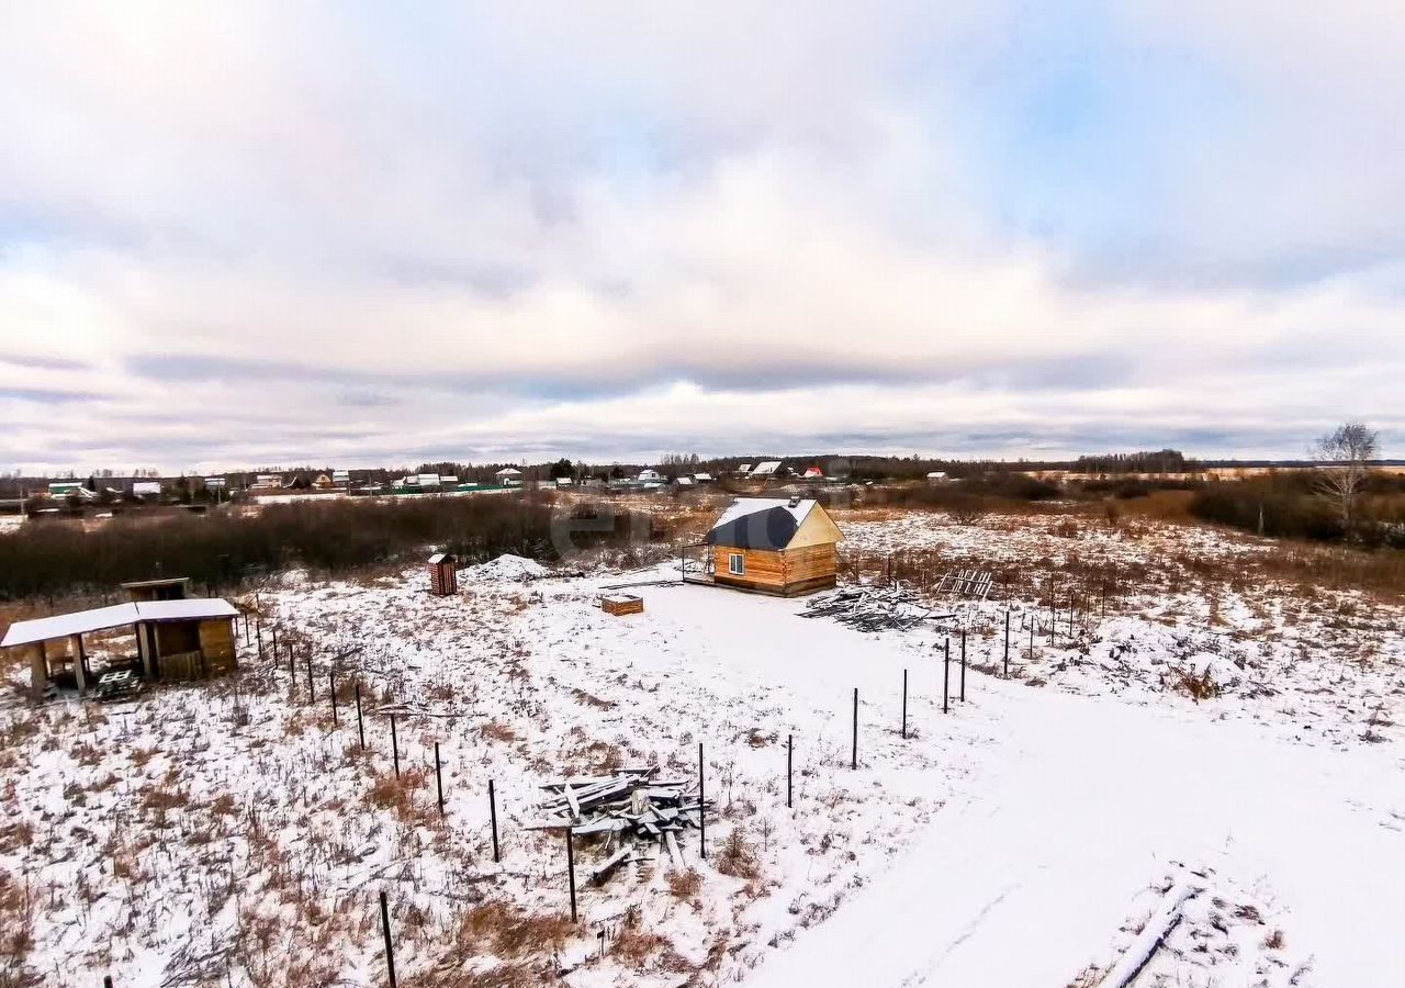
[[[1062,694],[1232,721],[1286,750],[1399,758],[1405,610],[1388,587],[1353,586],[1353,564],[1331,554],[1154,520],[837,519],[846,579],[891,576],[951,617],[864,634],[804,618],[804,602],[655,585],[670,564],[556,576],[504,557],[465,571],[447,599],[417,569],[268,580],[247,597],[259,620],[237,676],[135,703],[31,707],[11,669],[0,987],[104,974],[119,988],[381,985],[381,892],[400,985],[747,981],[804,957],[808,930],[891,878],[946,807],[975,798],[1021,711],[1061,710],[1050,704]],[[933,596],[958,568],[996,576],[986,600]],[[645,614],[599,609],[620,582],[643,583]],[[962,632],[971,700],[944,715],[939,655]],[[707,856],[686,829],[681,867],[645,849],[597,885],[613,846],[579,838],[573,923],[562,833],[530,829],[541,787],[636,766],[691,786],[700,743]],[[1383,825],[1402,814],[1399,828],[1405,804],[1392,805],[1370,812]],[[1162,876],[1149,869],[1141,887]],[[1208,925],[1239,944],[1228,964],[1270,937],[1243,912],[1270,912],[1270,888],[1211,883],[1177,943]],[[1116,901],[1109,916],[1135,908]],[[1096,978],[1125,944],[1116,922],[1075,942],[1050,984]],[[1255,957],[1241,966],[1270,964]],[[1179,977],[1173,958],[1158,964]]]

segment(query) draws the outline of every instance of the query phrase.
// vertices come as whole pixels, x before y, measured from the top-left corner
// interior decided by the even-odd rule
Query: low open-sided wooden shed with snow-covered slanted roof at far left
[[[51,682],[70,682],[80,694],[96,683],[84,635],[131,627],[135,655],[111,654],[110,669],[140,668],[146,679],[204,679],[236,666],[235,617],[219,599],[142,600],[56,614],[10,625],[0,648],[28,661],[30,686],[42,696]]]

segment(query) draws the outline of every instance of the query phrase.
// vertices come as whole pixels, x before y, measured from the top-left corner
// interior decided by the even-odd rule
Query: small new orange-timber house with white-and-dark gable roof
[[[712,582],[795,596],[835,586],[843,535],[812,498],[738,498],[712,524]]]

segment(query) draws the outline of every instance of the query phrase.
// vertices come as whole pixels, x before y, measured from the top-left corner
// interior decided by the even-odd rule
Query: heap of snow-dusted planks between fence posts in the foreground
[[[608,835],[608,856],[590,876],[597,885],[621,864],[653,860],[645,853],[648,845],[667,852],[673,867],[681,870],[677,833],[701,828],[704,807],[712,802],[698,801],[697,781],[662,780],[656,773],[656,767],[621,769],[610,776],[549,781],[542,786],[549,795],[538,805],[547,818],[528,829]]]

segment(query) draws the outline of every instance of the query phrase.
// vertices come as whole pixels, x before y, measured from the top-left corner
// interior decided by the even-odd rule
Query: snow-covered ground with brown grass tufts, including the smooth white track
[[[669,566],[561,579],[504,558],[448,599],[419,571],[289,576],[257,602],[278,655],[251,642],[233,680],[0,710],[0,985],[382,985],[385,891],[400,985],[1083,988],[1173,887],[1193,894],[1137,985],[1405,984],[1398,606],[1197,579],[1197,558],[1266,551],[1203,528],[842,527],[854,552],[1083,554],[1144,580],[1072,632],[1030,594],[863,634],[702,586],[641,586],[638,616],[596,606]],[[985,672],[943,714],[960,627]],[[541,783],[691,779],[698,743],[707,859],[687,831],[687,871],[663,856],[596,887],[604,852],[577,839],[572,926],[563,840],[524,828]]]

